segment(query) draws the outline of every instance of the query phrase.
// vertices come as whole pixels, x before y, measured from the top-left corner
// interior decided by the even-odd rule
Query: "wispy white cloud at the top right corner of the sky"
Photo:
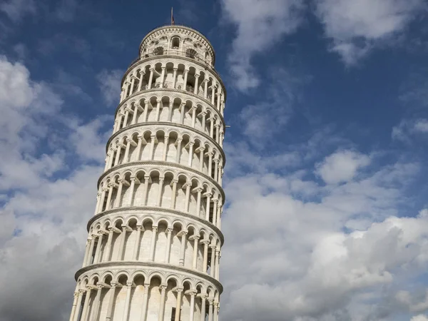
[[[423,6],[423,0],[317,0],[316,14],[331,50],[352,65],[377,42],[403,32]]]

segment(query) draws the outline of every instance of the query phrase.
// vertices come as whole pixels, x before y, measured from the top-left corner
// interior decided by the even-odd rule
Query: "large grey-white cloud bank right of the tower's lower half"
[[[424,273],[427,210],[413,218],[393,215],[405,202],[397,199],[404,182],[417,169],[397,163],[357,178],[356,168],[370,158],[337,154],[339,161],[331,163],[342,164],[343,157],[353,165],[328,176],[345,182],[335,187],[317,185],[297,168],[282,175],[263,168],[227,180],[221,273],[226,320],[388,320],[397,307],[370,319],[390,295],[377,288],[402,282],[407,270]],[[310,198],[298,190],[307,186]]]

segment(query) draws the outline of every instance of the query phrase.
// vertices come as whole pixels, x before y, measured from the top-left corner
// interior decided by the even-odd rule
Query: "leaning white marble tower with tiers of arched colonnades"
[[[209,41],[163,26],[122,81],[71,321],[218,321],[225,87]]]

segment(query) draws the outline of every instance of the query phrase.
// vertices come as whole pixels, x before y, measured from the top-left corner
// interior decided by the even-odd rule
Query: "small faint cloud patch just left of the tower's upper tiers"
[[[101,94],[108,107],[118,103],[118,97],[121,93],[121,80],[123,71],[115,69],[107,71],[104,69],[96,76]]]

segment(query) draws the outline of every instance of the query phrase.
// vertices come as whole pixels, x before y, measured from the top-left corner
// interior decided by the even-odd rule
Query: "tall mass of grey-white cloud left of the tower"
[[[61,113],[62,105],[49,84],[32,81],[25,66],[0,57],[0,287],[7,289],[1,321],[68,319],[102,169],[97,161],[86,163],[68,137],[105,134],[98,123],[103,117],[64,126],[72,118]],[[103,152],[97,138],[86,144],[97,146],[94,154]],[[75,167],[66,161],[79,154]],[[102,154],[93,158],[101,161]]]

